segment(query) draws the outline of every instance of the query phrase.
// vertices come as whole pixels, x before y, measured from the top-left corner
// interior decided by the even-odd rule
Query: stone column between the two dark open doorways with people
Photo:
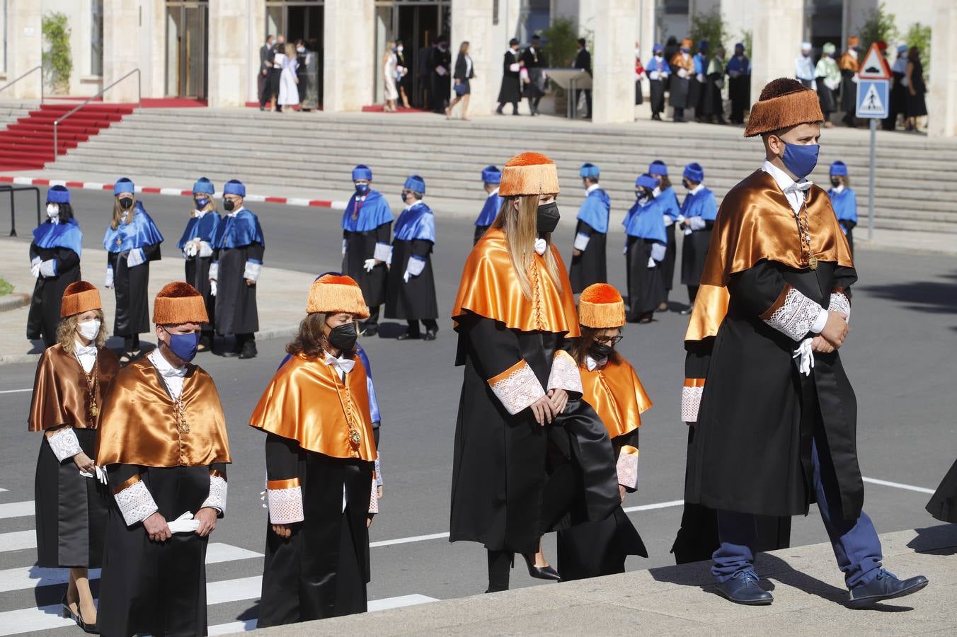
[[[323,110],[361,111],[372,103],[375,86],[375,3],[336,0],[325,3]]]

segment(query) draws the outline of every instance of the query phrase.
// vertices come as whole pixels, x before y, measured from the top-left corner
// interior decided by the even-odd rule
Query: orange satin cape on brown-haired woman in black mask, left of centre
[[[366,367],[358,356],[355,362],[344,384],[335,367],[302,355],[291,357],[266,387],[249,424],[295,440],[304,450],[374,461]],[[362,437],[358,447],[349,442],[349,423]]]

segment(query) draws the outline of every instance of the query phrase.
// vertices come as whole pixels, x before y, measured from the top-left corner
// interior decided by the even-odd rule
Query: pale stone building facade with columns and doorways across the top
[[[598,122],[634,118],[634,44],[650,55],[654,42],[689,33],[693,16],[720,11],[730,47],[750,40],[752,95],[773,77],[792,76],[799,45],[842,48],[879,0],[0,0],[0,81],[21,77],[49,48],[43,16],[62,13],[70,28],[71,96],[105,99],[204,99],[213,107],[257,101],[259,48],[268,34],[302,39],[315,52],[323,110],[358,111],[382,100],[386,44],[402,39],[418,93],[419,64],[432,38],[471,43],[476,68],[473,112],[490,113],[511,37],[523,45],[556,16],[571,18],[592,43],[594,113]],[[957,2],[883,0],[897,27],[932,27],[930,131],[957,133]],[[896,43],[889,43],[892,46]],[[0,99],[39,97],[39,74]],[[139,80],[139,82],[137,81]],[[46,76],[51,84],[51,77]],[[47,87],[47,93],[51,86]]]

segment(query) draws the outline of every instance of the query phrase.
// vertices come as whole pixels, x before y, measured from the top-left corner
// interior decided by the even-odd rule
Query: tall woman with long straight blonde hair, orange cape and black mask
[[[620,501],[608,432],[580,400],[567,351],[580,332],[551,244],[558,192],[545,155],[508,161],[499,216],[469,254],[452,313],[465,374],[450,539],[484,544],[488,592],[508,588],[515,553],[532,577],[558,580],[541,558],[542,535],[604,519]]]

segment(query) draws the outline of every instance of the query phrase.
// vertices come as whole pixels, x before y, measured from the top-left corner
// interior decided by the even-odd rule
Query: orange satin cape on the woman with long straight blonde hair
[[[535,253],[532,272],[528,276],[532,285],[529,299],[522,294],[522,287],[514,275],[515,268],[505,245],[505,232],[486,231],[465,261],[452,319],[457,321],[466,312],[472,312],[520,332],[564,333],[568,338],[580,336],[568,271],[558,249],[553,245],[550,249],[558,266],[561,290],[548,275],[545,259]]]

